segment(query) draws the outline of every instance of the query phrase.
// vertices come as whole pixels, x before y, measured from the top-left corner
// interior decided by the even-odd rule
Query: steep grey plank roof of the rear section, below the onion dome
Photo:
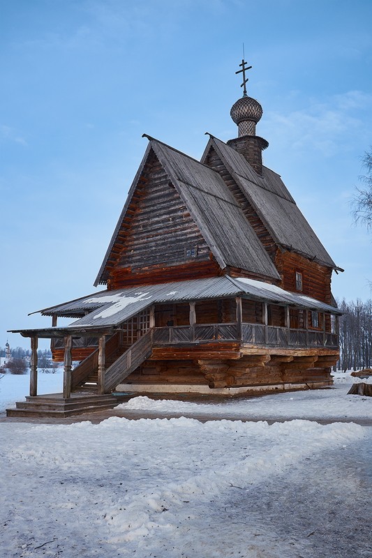
[[[209,140],[203,163],[211,148],[216,150],[278,245],[338,269],[276,172],[262,167],[260,176],[241,153],[216,137]]]

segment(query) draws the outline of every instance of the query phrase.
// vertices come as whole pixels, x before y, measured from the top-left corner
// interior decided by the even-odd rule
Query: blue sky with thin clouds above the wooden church
[[[372,144],[370,0],[0,1],[0,346],[28,312],[94,292],[147,133],[200,158],[230,107],[245,45],[281,174],[345,273],[371,296],[371,235],[349,200]],[[46,345],[45,345],[46,346]]]

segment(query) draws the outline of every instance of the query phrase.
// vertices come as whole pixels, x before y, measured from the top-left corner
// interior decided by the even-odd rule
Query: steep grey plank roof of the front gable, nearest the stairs
[[[107,260],[151,149],[198,225],[221,269],[230,265],[261,276],[280,279],[276,267],[221,176],[207,165],[151,139],[94,285],[107,280]]]

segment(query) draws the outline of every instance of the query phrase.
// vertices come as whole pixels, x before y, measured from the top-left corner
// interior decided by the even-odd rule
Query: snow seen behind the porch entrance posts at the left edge
[[[60,393],[64,384],[64,372],[62,368],[54,369],[54,372],[38,373],[38,395],[43,393]],[[15,407],[16,401],[24,401],[30,393],[30,375],[9,374],[0,379],[0,414],[6,409]]]

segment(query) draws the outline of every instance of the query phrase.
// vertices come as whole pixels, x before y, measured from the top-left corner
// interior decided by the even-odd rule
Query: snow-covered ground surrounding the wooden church
[[[61,379],[40,374],[40,391],[60,391]],[[0,380],[1,409],[28,380]],[[205,423],[1,422],[0,556],[372,557],[372,427],[352,422],[372,417],[372,398],[346,395],[353,381],[211,405],[124,404],[220,418]],[[234,412],[350,422],[223,418]]]

